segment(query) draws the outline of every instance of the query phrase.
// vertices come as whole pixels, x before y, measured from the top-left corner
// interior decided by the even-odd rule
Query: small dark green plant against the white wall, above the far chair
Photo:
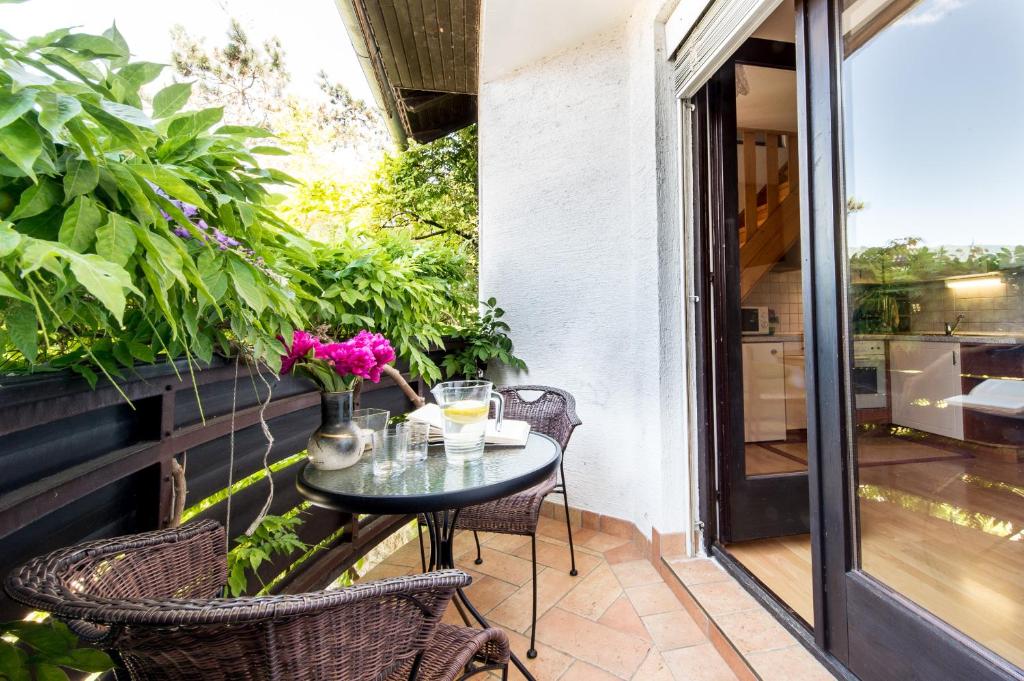
[[[483,313],[462,328],[454,329],[451,337],[457,350],[444,356],[442,366],[449,378],[476,379],[483,376],[490,361],[526,370],[526,363],[513,354],[509,325],[502,322],[505,310],[498,301],[482,301]]]

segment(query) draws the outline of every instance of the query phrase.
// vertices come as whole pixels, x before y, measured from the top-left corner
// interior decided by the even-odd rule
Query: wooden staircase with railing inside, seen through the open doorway
[[[800,191],[796,135],[773,130],[741,130],[743,177],[739,212],[739,297],[754,290],[800,239]],[[787,162],[779,164],[785,138]],[[758,142],[763,141],[766,181],[757,181]],[[748,216],[753,219],[748,220]]]

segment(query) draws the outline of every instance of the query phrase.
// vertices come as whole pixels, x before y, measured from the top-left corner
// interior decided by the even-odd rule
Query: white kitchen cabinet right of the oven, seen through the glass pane
[[[890,341],[892,422],[964,439],[964,409],[946,401],[961,389],[959,343]]]

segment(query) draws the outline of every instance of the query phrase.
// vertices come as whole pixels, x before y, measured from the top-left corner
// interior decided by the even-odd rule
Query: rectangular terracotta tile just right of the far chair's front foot
[[[560,607],[552,608],[538,623],[537,637],[544,643],[622,678],[630,678],[643,663],[650,644]]]

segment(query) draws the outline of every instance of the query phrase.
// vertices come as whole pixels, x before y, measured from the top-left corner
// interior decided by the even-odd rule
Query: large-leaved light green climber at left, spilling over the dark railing
[[[142,109],[159,65],[116,28],[0,36],[0,341],[6,370],[71,368],[90,383],[137,361],[208,360],[232,343],[273,366],[303,326],[310,245],[269,208],[261,168],[219,109],[180,112],[189,86]],[[182,203],[198,207],[189,220]],[[199,220],[240,242],[221,250]]]

